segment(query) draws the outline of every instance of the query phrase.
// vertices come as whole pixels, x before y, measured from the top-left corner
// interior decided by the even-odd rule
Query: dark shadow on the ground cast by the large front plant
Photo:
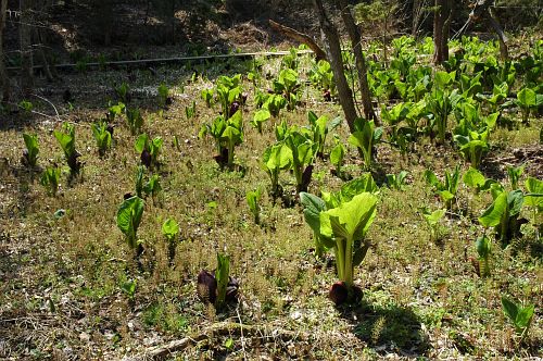
[[[390,352],[407,357],[426,356],[429,343],[419,318],[409,309],[382,307],[363,299],[358,304],[339,309],[351,323],[353,333],[379,354]]]

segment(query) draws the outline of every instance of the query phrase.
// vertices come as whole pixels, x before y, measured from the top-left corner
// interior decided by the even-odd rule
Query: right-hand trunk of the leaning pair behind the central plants
[[[339,5],[341,7],[341,17],[343,18],[343,23],[345,23],[345,27],[349,33],[349,37],[351,38],[351,43],[354,51],[356,70],[358,73],[358,83],[361,85],[364,116],[368,121],[374,120],[376,125],[380,125],[379,119],[374,112],[374,105],[371,104],[371,92],[369,91],[368,85],[366,59],[364,58],[364,52],[362,51],[361,30],[354,23],[353,14],[351,13],[351,7],[349,5],[348,1],[340,0]]]

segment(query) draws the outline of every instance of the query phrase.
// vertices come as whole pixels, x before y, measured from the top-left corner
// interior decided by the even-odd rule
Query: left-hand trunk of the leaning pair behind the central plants
[[[343,113],[345,114],[349,129],[351,130],[351,133],[354,133],[354,122],[357,117],[357,114],[354,107],[353,92],[349,87],[345,74],[343,73],[343,59],[341,57],[341,46],[338,30],[326,15],[325,8],[323,7],[323,1],[313,0],[313,4],[317,13],[320,33],[324,40],[323,42],[325,43],[325,50],[328,54],[327,58],[330,61],[330,65],[332,67],[333,79],[336,80],[336,86],[338,87],[341,108],[343,109]]]

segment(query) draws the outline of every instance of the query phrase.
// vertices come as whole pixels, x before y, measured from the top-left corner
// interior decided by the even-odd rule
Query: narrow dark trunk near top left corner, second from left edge
[[[26,97],[34,88],[33,49],[31,49],[31,0],[20,0],[21,11],[20,48],[21,48],[21,86]]]

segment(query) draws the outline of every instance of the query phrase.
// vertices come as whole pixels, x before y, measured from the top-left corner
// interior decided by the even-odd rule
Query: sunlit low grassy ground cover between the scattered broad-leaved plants
[[[304,74],[302,70],[311,69],[312,61],[302,57],[300,62]],[[220,109],[219,104],[207,108],[200,94],[220,74],[254,71],[252,62],[159,69],[155,74],[137,70],[131,82],[123,71],[66,76],[75,102],[62,107],[61,117],[75,127],[83,163],[77,174],[65,165],[53,136],[62,122],[31,113],[10,115],[10,125],[0,132],[0,357],[118,358],[173,338],[209,333],[211,325],[220,322],[264,327],[268,333],[211,333],[182,350],[181,358],[541,354],[542,245],[535,240],[533,225],[523,225],[523,236],[508,248],[493,246],[491,275],[481,278],[472,260],[482,233],[477,219],[492,203],[490,194],[476,194],[460,182],[453,210],[435,229],[425,221],[425,208],[444,208],[427,185],[425,171],[433,170],[441,177],[457,164],[462,173],[469,169],[452,141],[435,146],[421,137],[405,155],[390,144],[377,145],[371,171],[380,186],[378,213],[367,236],[372,246],[356,267],[354,281],[363,298],[354,304],[333,306],[328,289],[337,281],[334,260],[331,252],[315,260],[313,233],[295,202],[294,175],[280,174],[289,207],[280,199],[275,202],[267,191],[269,178],[261,159],[275,142],[274,122],[279,124],[279,120],[264,123],[262,134],[249,125],[255,112],[255,89],[270,87],[266,76],[275,78],[280,66],[278,60],[263,62],[258,86],[243,80],[249,94],[242,107],[244,141],[236,147],[231,171],[214,160],[213,140],[198,137],[201,126]],[[160,165],[146,171],[146,179],[159,175],[162,190],[146,199],[138,229],[144,249],[140,265],[115,223],[123,197],[135,192],[138,135],[126,126],[124,115],[116,117],[112,149],[99,157],[90,128],[103,117],[108,101],[117,101],[100,85],[123,82],[132,89],[128,107],[141,109],[142,132],[164,140]],[[148,91],[161,83],[168,85],[173,98],[165,109]],[[338,104],[323,102],[319,90],[304,82],[299,94],[295,110],[280,113],[289,125],[306,125],[310,110],[330,120],[342,114]],[[53,94],[51,100],[60,103],[61,95],[62,90]],[[195,113],[191,114],[187,109],[193,102]],[[47,103],[34,104],[51,112]],[[517,114],[507,113],[507,117],[515,120]],[[484,174],[509,189],[506,165],[525,163],[520,184],[530,175],[541,178],[541,117],[534,117],[529,124],[515,121],[512,129],[496,128],[491,151],[482,160]],[[20,163],[23,132],[38,136],[35,169]],[[332,133],[346,146],[346,124]],[[330,134],[325,153],[333,144]],[[356,177],[364,173],[362,157],[354,147],[346,147],[343,172]],[[39,183],[41,171],[51,165],[61,167],[56,197]],[[344,182],[332,169],[329,160],[317,159],[308,191],[338,190]],[[386,174],[401,171],[408,171],[406,184],[388,188]],[[245,200],[247,192],[257,188],[263,190],[260,225]],[[522,215],[532,217],[526,208]],[[172,261],[161,232],[166,219],[179,224]],[[230,274],[241,283],[239,302],[220,312],[197,297],[197,275],[202,269],[215,269],[217,252],[230,256]],[[130,285],[135,285],[132,290]],[[522,341],[504,315],[503,295],[536,307]],[[299,337],[281,336],[291,331]]]

